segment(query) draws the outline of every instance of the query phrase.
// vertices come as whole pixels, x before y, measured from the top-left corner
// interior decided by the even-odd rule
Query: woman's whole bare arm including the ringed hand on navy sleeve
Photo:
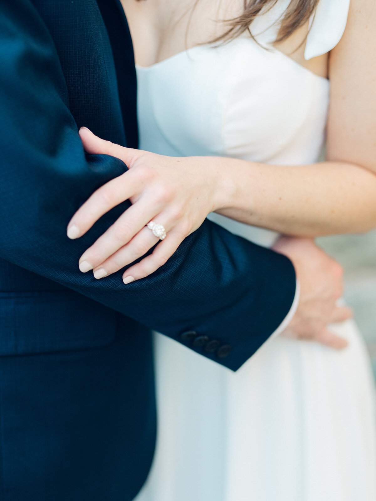
[[[86,250],[82,268],[93,268],[100,278],[103,270],[109,275],[139,259],[158,241],[144,228],[151,219],[165,226],[167,238],[125,277],[142,278],[163,265],[212,211],[290,235],[376,226],[376,8],[371,4],[352,0],[345,33],[330,56],[326,162],[273,166],[230,158],[171,158],[122,148],[81,130],[88,152],[121,158],[129,171],[82,205],[68,234],[84,234],[123,200],[133,203]],[[85,261],[92,266],[85,267]]]

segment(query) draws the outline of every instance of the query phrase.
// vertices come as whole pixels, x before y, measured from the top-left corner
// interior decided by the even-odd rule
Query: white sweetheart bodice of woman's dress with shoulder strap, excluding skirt
[[[252,25],[258,43],[242,36],[216,47],[194,47],[147,68],[137,66],[141,149],[276,165],[317,160],[324,141],[329,81],[273,49],[286,1],[277,2]],[[336,45],[348,3],[320,0],[310,22],[306,59]],[[226,218],[214,217],[228,226]],[[230,229],[258,240],[249,226],[231,222]],[[269,244],[270,238],[260,243]]]

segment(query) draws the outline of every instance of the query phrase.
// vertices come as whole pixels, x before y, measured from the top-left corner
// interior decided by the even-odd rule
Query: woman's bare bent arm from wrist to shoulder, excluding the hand
[[[223,163],[232,190],[221,213],[293,235],[376,226],[376,3],[353,0],[329,60],[327,161]]]

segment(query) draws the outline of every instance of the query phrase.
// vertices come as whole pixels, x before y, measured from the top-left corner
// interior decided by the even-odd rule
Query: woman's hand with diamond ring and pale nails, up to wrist
[[[182,240],[198,229],[206,216],[222,207],[219,159],[167,157],[124,148],[80,130],[88,153],[106,154],[124,161],[129,170],[97,189],[68,224],[67,234],[78,238],[110,209],[130,200],[132,205],[89,247],[79,261],[80,270],[106,277],[144,256],[158,238],[146,226],[162,224],[166,238],[152,254],[123,274],[124,283],[146,277],[162,266]]]

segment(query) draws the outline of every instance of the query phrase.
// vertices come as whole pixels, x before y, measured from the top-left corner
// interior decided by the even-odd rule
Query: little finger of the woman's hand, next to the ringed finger
[[[148,277],[158,270],[172,256],[182,240],[183,238],[179,233],[170,232],[164,240],[158,243],[150,256],[131,266],[123,273],[124,284]]]

